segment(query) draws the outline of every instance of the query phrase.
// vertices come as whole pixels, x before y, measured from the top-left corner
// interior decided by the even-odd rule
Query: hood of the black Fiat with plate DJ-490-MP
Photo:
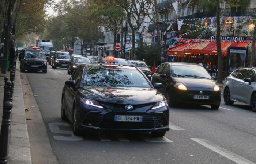
[[[174,78],[176,82],[184,84],[187,88],[210,88],[213,89],[216,82],[212,79],[197,78]]]

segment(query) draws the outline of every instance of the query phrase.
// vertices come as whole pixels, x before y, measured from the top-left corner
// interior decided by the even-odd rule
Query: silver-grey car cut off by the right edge
[[[223,98],[226,105],[234,101],[251,105],[256,112],[256,68],[240,67],[225,78]]]

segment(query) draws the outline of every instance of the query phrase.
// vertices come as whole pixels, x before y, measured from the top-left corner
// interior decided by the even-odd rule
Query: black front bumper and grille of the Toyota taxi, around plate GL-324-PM
[[[169,131],[169,107],[144,111],[111,111],[105,109],[80,109],[78,114],[80,130],[118,130],[118,131]],[[117,122],[115,115],[143,116],[142,122]]]

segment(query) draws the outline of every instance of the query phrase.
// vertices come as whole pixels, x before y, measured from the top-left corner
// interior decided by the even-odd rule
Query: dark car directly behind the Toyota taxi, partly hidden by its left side
[[[90,64],[90,60],[86,57],[82,56],[74,56],[71,58],[71,60],[68,62],[68,74],[72,74],[78,66],[81,64]]]

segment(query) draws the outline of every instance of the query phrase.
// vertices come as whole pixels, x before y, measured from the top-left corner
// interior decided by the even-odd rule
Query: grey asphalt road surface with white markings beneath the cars
[[[44,119],[54,154],[61,164],[80,163],[256,163],[256,113],[249,106],[221,103],[170,108],[170,131],[163,138],[149,133],[95,132],[76,137],[61,120],[61,91],[67,69],[26,73]]]

